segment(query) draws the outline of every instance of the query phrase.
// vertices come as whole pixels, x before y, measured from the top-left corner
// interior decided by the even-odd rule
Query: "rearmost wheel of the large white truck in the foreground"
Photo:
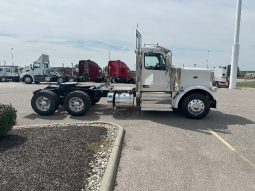
[[[40,115],[51,115],[59,106],[59,98],[52,91],[42,90],[34,94],[31,106]]]

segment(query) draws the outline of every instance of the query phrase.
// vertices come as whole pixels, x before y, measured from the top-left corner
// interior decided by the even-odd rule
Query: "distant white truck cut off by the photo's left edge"
[[[17,66],[0,66],[0,82],[19,82]]]

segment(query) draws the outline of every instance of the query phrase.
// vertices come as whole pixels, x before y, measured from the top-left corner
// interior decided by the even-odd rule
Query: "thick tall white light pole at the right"
[[[240,36],[241,12],[242,12],[242,0],[237,0],[235,37],[234,37],[234,45],[232,47],[229,89],[236,88],[238,57],[239,57],[239,49],[240,49],[239,36]]]

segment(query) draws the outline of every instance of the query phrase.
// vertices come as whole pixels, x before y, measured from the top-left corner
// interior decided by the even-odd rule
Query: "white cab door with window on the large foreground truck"
[[[170,77],[166,61],[161,53],[144,53],[142,91],[170,91]]]

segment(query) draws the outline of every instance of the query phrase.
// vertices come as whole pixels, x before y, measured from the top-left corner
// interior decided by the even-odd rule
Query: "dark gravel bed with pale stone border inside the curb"
[[[55,124],[0,139],[1,190],[98,190],[117,127]]]

